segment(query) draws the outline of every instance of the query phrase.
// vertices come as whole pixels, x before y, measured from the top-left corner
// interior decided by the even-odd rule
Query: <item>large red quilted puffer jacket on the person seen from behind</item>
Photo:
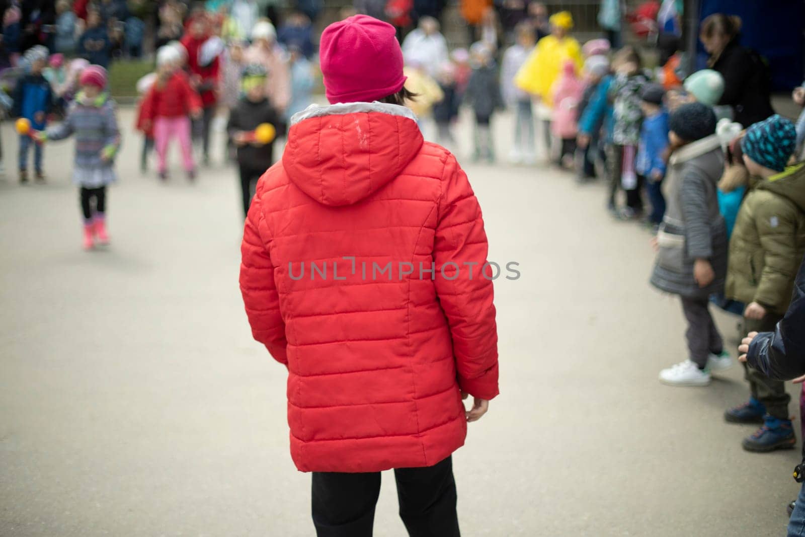
[[[240,277],[254,338],[288,369],[297,468],[429,466],[464,444],[460,391],[497,395],[486,253],[467,176],[410,110],[297,119],[258,183]]]

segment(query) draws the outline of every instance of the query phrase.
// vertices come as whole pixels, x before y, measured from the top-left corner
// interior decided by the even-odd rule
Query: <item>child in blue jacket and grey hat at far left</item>
[[[29,48],[24,59],[27,64],[27,73],[14,87],[14,109],[11,115],[26,118],[31,122],[31,129],[44,130],[47,126],[47,114],[53,106],[53,90],[44,77],[43,72],[47,64],[47,48],[41,45]],[[28,148],[34,146],[34,168],[36,180],[44,181],[42,172],[42,145],[34,143],[31,136],[19,136],[19,182],[28,181]]]

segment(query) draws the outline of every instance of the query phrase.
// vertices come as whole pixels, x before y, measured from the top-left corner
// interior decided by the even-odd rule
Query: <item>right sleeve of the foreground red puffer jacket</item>
[[[450,325],[459,386],[481,399],[498,394],[492,281],[482,274],[487,250],[481,207],[451,156],[442,177],[433,252],[436,295]]]

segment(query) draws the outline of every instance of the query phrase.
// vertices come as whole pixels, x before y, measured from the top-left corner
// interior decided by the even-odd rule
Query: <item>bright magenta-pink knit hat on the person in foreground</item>
[[[324,29],[319,45],[330,103],[376,101],[403,89],[403,51],[394,27],[355,15]]]

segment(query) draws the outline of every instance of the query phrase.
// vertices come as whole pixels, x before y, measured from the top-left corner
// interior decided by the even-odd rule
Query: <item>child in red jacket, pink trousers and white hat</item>
[[[184,171],[188,179],[196,178],[196,164],[193,162],[190,138],[190,118],[199,118],[201,100],[191,87],[187,75],[177,68],[173,54],[160,48],[157,58],[156,80],[142,100],[138,128],[143,132],[153,130],[158,159],[159,179],[167,179],[167,146],[171,138],[179,140],[182,151]]]

